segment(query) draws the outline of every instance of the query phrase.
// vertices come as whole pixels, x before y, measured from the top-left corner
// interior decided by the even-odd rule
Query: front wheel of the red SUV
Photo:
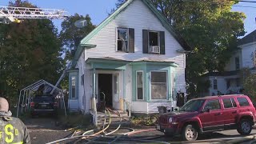
[[[198,130],[193,125],[187,125],[182,130],[182,139],[185,141],[195,141],[198,138]]]

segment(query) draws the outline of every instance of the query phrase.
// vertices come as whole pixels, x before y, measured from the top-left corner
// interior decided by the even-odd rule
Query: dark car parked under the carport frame
[[[58,102],[52,95],[36,95],[30,102],[30,113],[36,114],[57,114]]]

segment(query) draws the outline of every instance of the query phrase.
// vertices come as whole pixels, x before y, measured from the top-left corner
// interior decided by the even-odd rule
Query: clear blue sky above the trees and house
[[[8,2],[8,0],[0,0],[0,6],[7,6]],[[115,8],[117,0],[29,0],[29,2],[41,8],[66,10],[70,15],[74,13],[89,14],[94,25],[98,25],[108,16],[108,12]],[[232,10],[246,14],[246,34],[256,30],[256,2],[239,2],[233,6]],[[53,22],[60,30],[62,20],[54,20]]]

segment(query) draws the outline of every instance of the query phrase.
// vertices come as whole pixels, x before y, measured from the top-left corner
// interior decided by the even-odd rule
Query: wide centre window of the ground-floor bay
[[[151,71],[151,99],[167,98],[167,73]]]

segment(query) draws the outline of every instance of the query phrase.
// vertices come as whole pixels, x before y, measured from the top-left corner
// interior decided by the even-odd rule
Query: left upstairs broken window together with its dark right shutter
[[[134,53],[134,29],[117,28],[117,51]]]

